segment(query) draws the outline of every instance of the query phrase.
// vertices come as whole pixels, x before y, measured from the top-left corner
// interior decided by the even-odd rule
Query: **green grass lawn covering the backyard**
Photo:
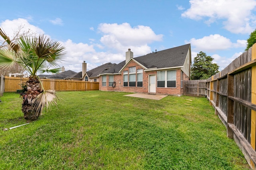
[[[206,98],[58,92],[58,108],[26,123],[19,94],[0,103],[0,169],[250,169]]]

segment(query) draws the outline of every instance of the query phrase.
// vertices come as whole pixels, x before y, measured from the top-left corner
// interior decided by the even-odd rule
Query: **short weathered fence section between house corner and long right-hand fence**
[[[206,80],[184,80],[184,95],[206,96]]]

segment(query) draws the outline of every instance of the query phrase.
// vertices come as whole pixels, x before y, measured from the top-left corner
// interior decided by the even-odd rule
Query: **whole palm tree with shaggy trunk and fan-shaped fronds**
[[[0,67],[12,66],[18,63],[30,76],[24,84],[21,93],[22,112],[27,120],[36,120],[48,110],[55,102],[55,92],[53,90],[44,90],[37,72],[58,73],[61,68],[58,62],[65,56],[65,48],[57,41],[52,41],[45,35],[39,37],[22,36],[17,42],[11,42],[10,38],[0,29],[0,35],[4,38],[8,48],[0,49]],[[51,69],[53,68],[53,69]]]

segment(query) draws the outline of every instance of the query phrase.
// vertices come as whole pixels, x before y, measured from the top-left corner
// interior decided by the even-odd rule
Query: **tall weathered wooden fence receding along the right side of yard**
[[[256,169],[256,44],[208,78],[207,98],[246,160]]]

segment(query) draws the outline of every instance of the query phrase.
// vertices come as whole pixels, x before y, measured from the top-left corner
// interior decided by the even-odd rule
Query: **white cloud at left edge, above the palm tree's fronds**
[[[22,27],[21,32],[26,32],[30,30],[30,33],[44,34],[44,31],[42,29],[31,25],[28,20],[23,18],[2,21],[0,23],[0,27],[4,29],[5,33],[10,37],[10,39],[13,38],[14,32],[17,32],[20,27]]]

